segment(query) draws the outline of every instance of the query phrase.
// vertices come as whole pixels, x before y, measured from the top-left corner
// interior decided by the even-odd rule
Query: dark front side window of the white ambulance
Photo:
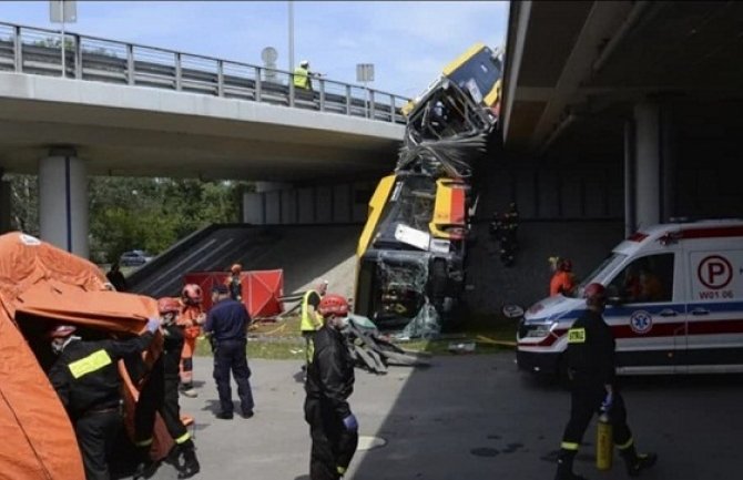
[[[612,282],[628,303],[671,302],[673,254],[649,255],[629,264]]]

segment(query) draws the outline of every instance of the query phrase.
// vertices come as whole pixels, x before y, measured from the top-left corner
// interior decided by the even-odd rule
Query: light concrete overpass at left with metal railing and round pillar
[[[0,172],[39,173],[41,236],[82,256],[86,175],[283,190],[334,178],[352,198],[354,182],[395,165],[405,98],[328,79],[299,91],[291,72],[74,33],[63,72],[61,43],[0,23]],[[245,221],[281,218],[302,200],[250,195]]]

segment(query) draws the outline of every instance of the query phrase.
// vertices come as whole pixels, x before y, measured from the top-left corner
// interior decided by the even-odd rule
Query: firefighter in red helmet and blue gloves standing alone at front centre
[[[311,340],[313,356],[305,381],[305,419],[309,423],[311,480],[338,480],[358,445],[358,422],[348,405],[354,391],[354,361],[339,331],[348,316],[348,302],[326,295],[319,303],[325,319]]]

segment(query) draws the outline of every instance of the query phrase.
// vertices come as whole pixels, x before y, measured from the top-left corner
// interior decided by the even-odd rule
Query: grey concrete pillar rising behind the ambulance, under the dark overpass
[[[668,222],[675,215],[675,161],[671,110],[659,103],[634,106],[634,127],[627,129],[628,229]]]

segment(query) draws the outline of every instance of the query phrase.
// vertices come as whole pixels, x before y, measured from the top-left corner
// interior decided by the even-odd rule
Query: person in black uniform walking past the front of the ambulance
[[[638,453],[627,425],[624,400],[614,379],[614,337],[603,320],[607,294],[603,285],[589,284],[584,292],[586,313],[568,331],[568,367],[571,379],[570,420],[562,436],[556,480],[581,480],[572,472],[583,433],[593,413],[607,410],[613,426],[613,440],[630,477],[655,463],[655,453]]]

